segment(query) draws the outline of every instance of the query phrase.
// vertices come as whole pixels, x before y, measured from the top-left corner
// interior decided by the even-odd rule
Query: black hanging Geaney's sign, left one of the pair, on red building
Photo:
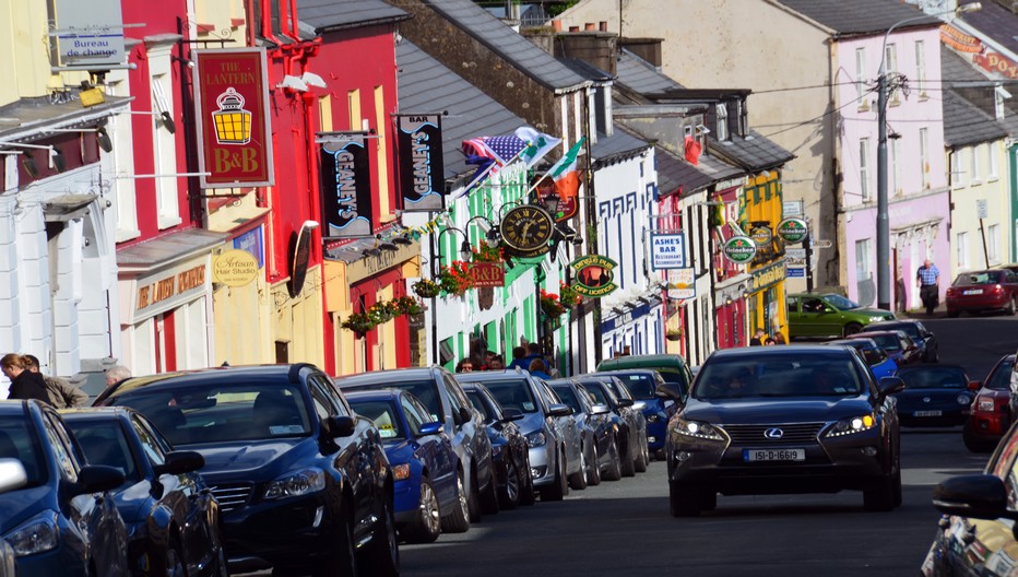
[[[320,134],[322,219],[327,238],[371,236],[371,169],[366,134]]]

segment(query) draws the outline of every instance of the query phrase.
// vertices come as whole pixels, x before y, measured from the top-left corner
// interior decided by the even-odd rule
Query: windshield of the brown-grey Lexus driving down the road
[[[865,381],[844,354],[739,355],[705,363],[694,384],[703,401],[758,397],[857,396]]]

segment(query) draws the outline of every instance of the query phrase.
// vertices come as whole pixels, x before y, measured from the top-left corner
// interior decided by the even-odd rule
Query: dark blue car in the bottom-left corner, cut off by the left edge
[[[36,401],[0,401],[0,458],[21,464],[7,466],[14,479],[0,494],[0,535],[17,575],[131,574],[127,528],[109,493],[123,473],[88,464],[56,411]]]

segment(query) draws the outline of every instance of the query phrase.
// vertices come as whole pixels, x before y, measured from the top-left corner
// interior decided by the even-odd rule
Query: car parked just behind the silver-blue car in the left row
[[[563,403],[572,409],[572,416],[580,431],[587,484],[600,485],[602,470],[609,471],[609,476],[617,479],[618,475],[612,471],[619,470],[618,446],[615,444],[615,424],[608,416],[608,405],[599,404],[575,379],[555,379],[547,385]]]

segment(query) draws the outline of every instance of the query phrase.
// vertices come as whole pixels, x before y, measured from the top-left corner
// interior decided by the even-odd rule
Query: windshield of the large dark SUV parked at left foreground
[[[303,437],[311,433],[304,397],[292,385],[164,385],[140,387],[111,401],[147,416],[175,446]]]

